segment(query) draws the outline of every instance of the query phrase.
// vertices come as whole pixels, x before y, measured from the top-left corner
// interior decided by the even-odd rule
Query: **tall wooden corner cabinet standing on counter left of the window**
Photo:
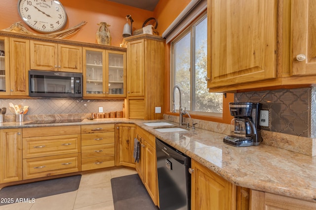
[[[126,47],[125,118],[140,120],[162,119],[164,90],[165,42],[160,36],[141,34],[124,39]]]

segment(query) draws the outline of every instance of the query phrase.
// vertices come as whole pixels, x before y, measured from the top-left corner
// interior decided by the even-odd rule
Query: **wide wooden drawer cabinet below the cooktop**
[[[80,125],[23,128],[23,180],[81,170]]]

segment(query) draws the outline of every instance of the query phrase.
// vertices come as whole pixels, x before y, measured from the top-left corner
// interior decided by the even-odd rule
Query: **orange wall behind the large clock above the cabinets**
[[[126,23],[126,15],[130,14],[134,20],[133,30],[140,29],[144,21],[154,15],[154,12],[148,10],[125,6],[107,0],[60,0],[60,2],[65,7],[68,16],[68,23],[64,29],[72,28],[81,21],[87,22],[78,33],[67,37],[67,39],[88,43],[97,43],[95,38],[95,32],[98,29],[97,24],[107,22],[111,25],[111,45],[119,46],[123,40],[122,32]],[[17,10],[17,3],[18,0],[1,0],[0,30],[8,28],[15,22],[22,22]],[[36,32],[26,24],[23,25],[28,30]],[[159,29],[158,32],[160,32]]]

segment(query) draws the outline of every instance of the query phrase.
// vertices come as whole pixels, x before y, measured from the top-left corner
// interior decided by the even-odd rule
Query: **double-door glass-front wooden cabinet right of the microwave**
[[[125,97],[126,53],[83,48],[83,97]]]

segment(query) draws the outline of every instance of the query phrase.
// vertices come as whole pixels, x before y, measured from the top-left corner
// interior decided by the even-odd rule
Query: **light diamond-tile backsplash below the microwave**
[[[6,115],[14,115],[9,111],[9,103],[29,106],[27,115],[61,115],[97,113],[98,107],[103,112],[122,111],[122,99],[70,99],[70,98],[36,98],[36,99],[0,99],[0,107],[6,107]]]

